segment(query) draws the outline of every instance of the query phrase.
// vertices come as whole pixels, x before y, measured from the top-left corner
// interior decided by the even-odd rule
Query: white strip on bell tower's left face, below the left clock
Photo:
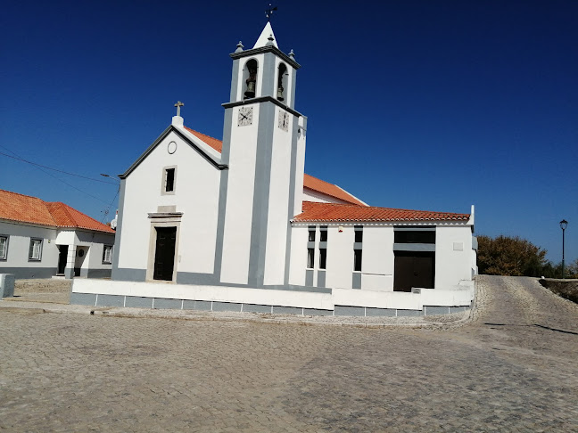
[[[261,63],[262,64],[262,63]],[[233,109],[227,207],[223,239],[221,282],[246,284],[249,274],[253,188],[257,155],[260,104],[253,108],[252,125],[236,127],[239,108]]]

